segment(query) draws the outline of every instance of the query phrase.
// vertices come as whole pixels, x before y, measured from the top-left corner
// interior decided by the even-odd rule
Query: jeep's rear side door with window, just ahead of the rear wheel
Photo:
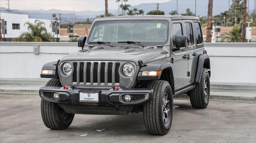
[[[186,73],[186,76],[187,76],[188,82],[192,82],[190,80],[191,72],[193,71],[192,65],[193,65],[193,60],[196,60],[196,59],[194,59],[194,57],[197,55],[196,42],[195,42],[195,37],[194,37],[194,28],[193,28],[192,20],[183,20],[183,22],[184,22],[184,27],[185,27],[185,33],[189,40],[188,49],[187,49],[187,55],[189,55],[188,71]]]

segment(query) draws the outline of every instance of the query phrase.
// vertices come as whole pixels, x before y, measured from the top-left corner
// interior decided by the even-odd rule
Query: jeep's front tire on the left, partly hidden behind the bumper
[[[50,79],[46,86],[61,86],[59,79]],[[44,125],[50,129],[66,129],[75,114],[66,113],[58,104],[41,99],[41,115]]]

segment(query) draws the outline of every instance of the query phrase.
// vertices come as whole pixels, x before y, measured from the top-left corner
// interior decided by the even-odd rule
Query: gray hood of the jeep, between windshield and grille
[[[121,49],[116,47],[104,49],[84,49],[72,53],[62,58],[64,60],[95,60],[95,61],[133,61],[138,65],[138,61],[143,63],[156,61],[166,57],[168,52],[164,49],[150,48],[138,49],[129,48]]]

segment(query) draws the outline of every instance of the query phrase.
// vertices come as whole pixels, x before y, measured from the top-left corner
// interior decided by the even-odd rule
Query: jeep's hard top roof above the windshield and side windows
[[[105,18],[171,18],[172,20],[200,20],[195,16],[171,16],[171,15],[143,15],[143,16],[111,16]],[[101,18],[98,18],[101,19]]]

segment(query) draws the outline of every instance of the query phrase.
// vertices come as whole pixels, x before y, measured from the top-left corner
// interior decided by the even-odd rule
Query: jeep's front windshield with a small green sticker
[[[166,20],[120,20],[95,22],[87,42],[136,41],[143,44],[165,44],[168,41]],[[122,43],[123,45],[124,43]]]

